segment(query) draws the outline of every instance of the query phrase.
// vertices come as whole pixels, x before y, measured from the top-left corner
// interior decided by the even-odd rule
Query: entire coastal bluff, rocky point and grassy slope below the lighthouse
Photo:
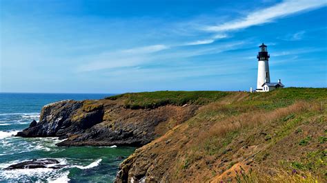
[[[130,93],[46,105],[17,136],[139,147],[116,182],[324,182],[326,107],[326,88]]]

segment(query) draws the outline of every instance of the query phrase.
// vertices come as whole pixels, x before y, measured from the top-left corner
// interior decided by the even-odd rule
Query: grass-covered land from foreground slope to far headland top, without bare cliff
[[[108,99],[119,98],[131,109],[202,105],[123,162],[130,176],[170,182],[327,180],[326,88],[143,92]]]

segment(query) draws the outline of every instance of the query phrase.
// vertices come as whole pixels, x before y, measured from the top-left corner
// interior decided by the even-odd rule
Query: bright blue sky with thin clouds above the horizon
[[[0,91],[327,86],[327,1],[0,1]]]

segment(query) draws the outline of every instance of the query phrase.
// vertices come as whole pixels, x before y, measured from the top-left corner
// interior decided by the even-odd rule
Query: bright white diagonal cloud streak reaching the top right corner
[[[282,3],[276,4],[275,6],[252,12],[248,14],[244,19],[236,19],[221,25],[206,26],[203,28],[203,30],[208,32],[239,30],[248,28],[253,25],[268,23],[280,17],[286,17],[290,14],[295,14],[314,8],[320,8],[326,5],[327,1],[325,0],[286,0]]]

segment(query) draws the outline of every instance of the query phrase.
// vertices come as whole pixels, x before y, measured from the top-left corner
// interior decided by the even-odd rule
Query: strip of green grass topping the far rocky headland
[[[227,96],[228,94],[230,94],[230,92],[159,91],[121,94],[118,96],[110,96],[106,99],[117,100],[121,98],[124,100],[125,107],[130,109],[153,109],[163,105],[204,105],[219,100],[219,98]]]

